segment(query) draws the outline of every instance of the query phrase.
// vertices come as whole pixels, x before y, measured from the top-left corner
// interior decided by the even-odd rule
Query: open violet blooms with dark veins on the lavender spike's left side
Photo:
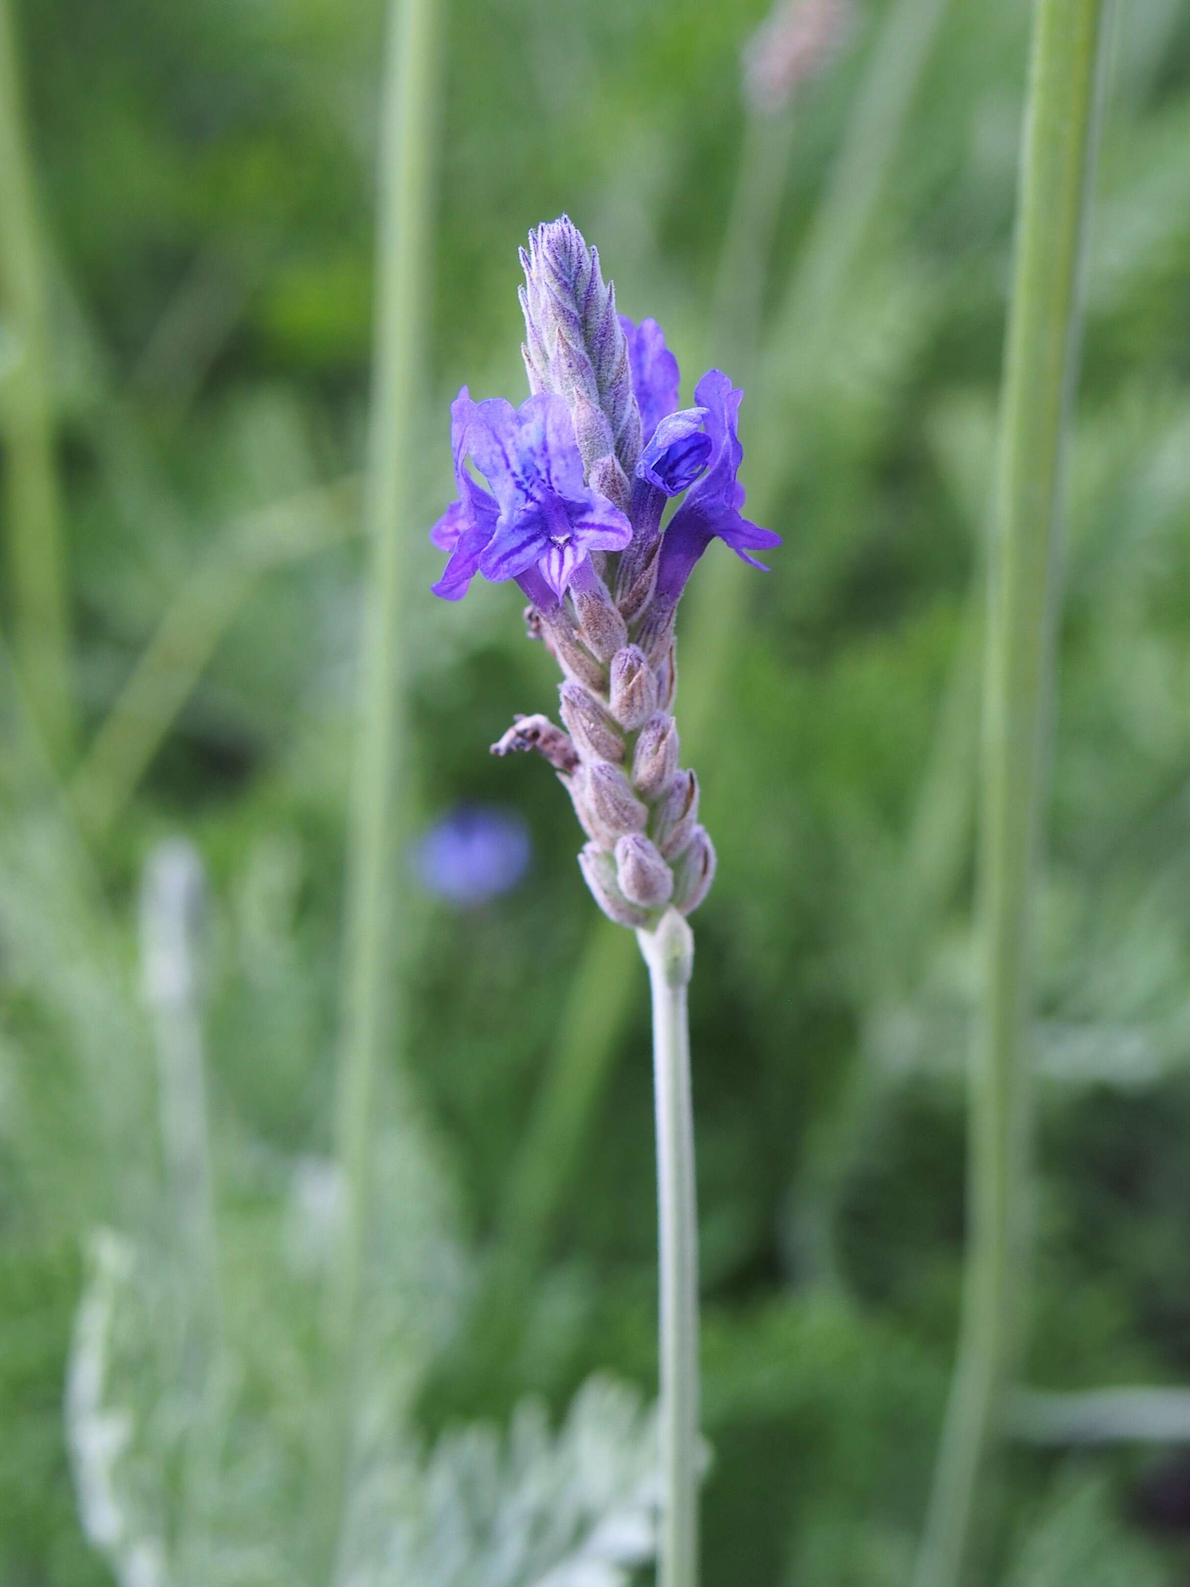
[[[476,573],[517,579],[535,600],[543,584],[566,594],[592,551],[622,551],[631,525],[582,479],[582,459],[563,397],[541,392],[520,408],[503,397],[474,403],[462,389],[451,408],[459,500],[430,532],[451,552],[435,594],[459,600]],[[481,489],[466,457],[487,479]]]

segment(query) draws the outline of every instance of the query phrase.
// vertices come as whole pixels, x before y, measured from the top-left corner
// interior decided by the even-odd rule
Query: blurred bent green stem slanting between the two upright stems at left
[[[355,482],[343,481],[248,514],[165,611],[75,773],[70,794],[89,838],[125,809],[257,578],[346,533]]]

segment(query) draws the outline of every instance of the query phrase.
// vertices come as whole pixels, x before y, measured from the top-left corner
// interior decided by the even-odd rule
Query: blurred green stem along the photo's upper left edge
[[[70,622],[54,455],[46,263],[10,0],[0,0],[0,422],[8,508],[10,619],[25,690],[62,767],[73,735]]]

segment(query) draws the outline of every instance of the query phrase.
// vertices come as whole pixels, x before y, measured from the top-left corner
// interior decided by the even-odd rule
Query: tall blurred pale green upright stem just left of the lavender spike
[[[438,0],[392,0],[379,133],[376,344],[363,522],[368,536],[357,749],[347,840],[343,1032],[336,1151],[343,1224],[328,1306],[332,1425],[322,1451],[333,1554],[349,1474],[354,1358],[368,1235],[376,1070],[398,1039],[393,992],[397,857],[405,824],[405,568],[416,421],[430,319],[433,143],[438,100]],[[332,1577],[333,1579],[333,1577]]]

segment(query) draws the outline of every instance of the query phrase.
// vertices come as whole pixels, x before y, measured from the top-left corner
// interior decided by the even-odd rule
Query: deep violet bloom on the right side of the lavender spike
[[[736,471],[744,448],[739,444],[736,424],[743,395],[722,370],[708,370],[695,389],[695,398],[706,411],[711,462],[662,536],[657,595],[670,605],[682,594],[690,570],[714,538],[725,541],[754,568],[763,568],[765,563],[757,562],[752,551],[781,544],[781,535],[774,535],[771,528],[758,528],[739,513],[744,487],[736,479]]]

